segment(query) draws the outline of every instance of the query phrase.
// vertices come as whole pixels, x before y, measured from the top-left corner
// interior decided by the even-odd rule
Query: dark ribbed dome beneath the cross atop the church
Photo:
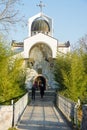
[[[39,17],[33,21],[31,31],[49,32],[50,27],[48,22],[44,18]]]

